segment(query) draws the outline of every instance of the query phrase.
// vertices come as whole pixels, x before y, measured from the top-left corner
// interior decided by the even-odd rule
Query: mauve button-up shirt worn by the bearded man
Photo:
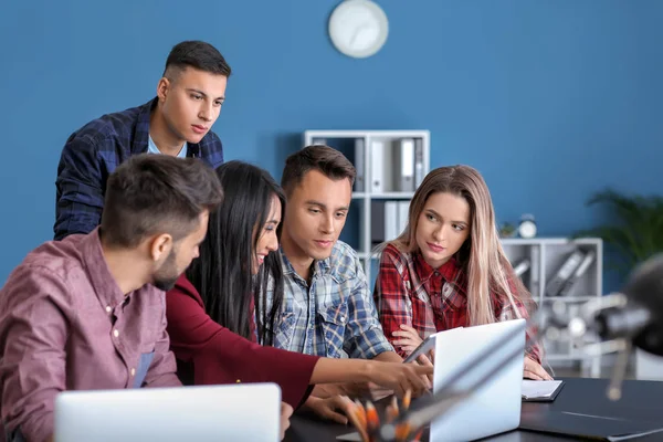
[[[39,246],[0,291],[0,411],[27,440],[53,433],[60,391],[179,385],[164,292],[122,293],[98,229]]]

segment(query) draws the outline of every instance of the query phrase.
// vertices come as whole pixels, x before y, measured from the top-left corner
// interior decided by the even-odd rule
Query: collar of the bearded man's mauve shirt
[[[115,277],[110,274],[106,259],[102,251],[99,228],[91,232],[81,242],[82,261],[90,275],[92,286],[104,307],[115,308],[125,299],[125,294],[117,285]]]

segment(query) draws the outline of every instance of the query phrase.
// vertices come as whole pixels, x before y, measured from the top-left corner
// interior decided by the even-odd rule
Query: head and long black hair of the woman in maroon
[[[224,189],[223,207],[210,217],[200,259],[186,275],[212,320],[243,338],[257,337],[260,344],[271,345],[283,297],[282,266],[271,252],[278,248],[285,196],[269,172],[245,162],[227,162],[217,175]],[[264,311],[260,307],[265,304],[270,273],[274,302],[256,318],[256,330],[253,312]]]

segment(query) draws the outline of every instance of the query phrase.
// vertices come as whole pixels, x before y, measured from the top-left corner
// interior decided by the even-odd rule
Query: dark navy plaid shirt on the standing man
[[[106,180],[130,156],[147,151],[149,117],[157,98],[139,107],[104,115],[73,133],[60,157],[55,180],[55,240],[90,233],[102,219]],[[210,131],[188,144],[188,157],[202,158],[215,168],[223,162],[219,137]]]

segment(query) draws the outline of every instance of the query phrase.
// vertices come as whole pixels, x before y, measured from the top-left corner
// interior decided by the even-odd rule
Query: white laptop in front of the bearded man
[[[65,391],[55,442],[280,440],[275,383]]]

